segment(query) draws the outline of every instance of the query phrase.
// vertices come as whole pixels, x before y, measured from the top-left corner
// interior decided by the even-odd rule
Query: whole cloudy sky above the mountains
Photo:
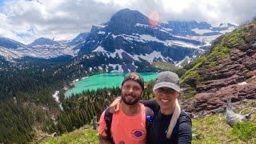
[[[0,36],[24,44],[41,37],[70,40],[124,8],[159,22],[195,20],[213,26],[242,25],[256,17],[255,0],[0,0]]]

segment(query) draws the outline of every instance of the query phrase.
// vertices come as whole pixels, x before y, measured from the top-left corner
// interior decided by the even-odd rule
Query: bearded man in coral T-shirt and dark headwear
[[[120,110],[112,115],[110,134],[114,143],[146,143],[146,107],[138,101],[144,91],[144,80],[137,73],[126,74],[121,87]],[[107,137],[106,110],[99,121],[99,140],[113,143]]]

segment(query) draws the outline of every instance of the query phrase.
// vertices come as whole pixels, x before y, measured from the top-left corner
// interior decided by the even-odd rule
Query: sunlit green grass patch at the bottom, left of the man
[[[46,138],[42,142],[43,144],[70,144],[70,143],[99,143],[98,142],[98,131],[93,130],[90,126],[84,126],[79,130],[62,134],[61,136],[54,138]]]

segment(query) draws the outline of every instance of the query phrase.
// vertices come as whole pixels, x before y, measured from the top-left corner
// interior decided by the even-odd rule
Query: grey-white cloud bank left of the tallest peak
[[[39,37],[70,39],[78,33],[90,31],[92,25],[108,21],[117,10],[118,7],[89,0],[11,1],[4,6],[1,17],[7,29],[0,34],[24,43]],[[31,29],[34,33],[26,34]],[[21,35],[27,37],[20,38]]]

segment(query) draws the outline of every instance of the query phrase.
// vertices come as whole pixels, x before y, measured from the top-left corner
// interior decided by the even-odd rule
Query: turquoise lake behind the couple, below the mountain
[[[157,78],[158,73],[139,73],[144,78],[145,82]],[[97,90],[98,88],[121,86],[124,78],[124,73],[105,73],[95,74],[89,78],[82,79],[74,83],[74,88],[67,90],[66,97],[71,94],[80,94],[83,90]]]

